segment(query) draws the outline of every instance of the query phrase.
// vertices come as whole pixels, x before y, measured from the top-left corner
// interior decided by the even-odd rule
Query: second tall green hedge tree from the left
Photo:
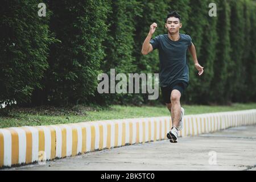
[[[97,89],[109,2],[67,0],[48,4],[52,11],[49,28],[60,42],[51,46],[49,69],[42,80],[44,89],[35,94],[35,104],[84,103]]]

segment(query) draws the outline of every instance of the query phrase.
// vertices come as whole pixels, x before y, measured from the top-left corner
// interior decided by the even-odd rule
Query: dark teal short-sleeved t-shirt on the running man
[[[192,44],[189,35],[180,34],[180,39],[173,41],[168,34],[158,35],[150,40],[153,49],[159,50],[160,86],[171,86],[174,82],[183,81],[188,84],[189,73],[187,49]]]

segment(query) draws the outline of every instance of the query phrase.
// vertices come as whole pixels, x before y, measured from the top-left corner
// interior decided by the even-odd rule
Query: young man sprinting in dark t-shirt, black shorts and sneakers
[[[181,16],[176,11],[167,15],[165,27],[168,34],[158,35],[151,40],[156,27],[158,27],[156,23],[151,24],[141,52],[143,55],[147,55],[155,49],[159,50],[160,88],[163,100],[172,117],[172,128],[167,134],[167,138],[170,139],[170,142],[176,143],[178,131],[183,129],[184,109],[180,105],[180,97],[189,84],[187,49],[193,57],[199,76],[203,74],[204,68],[197,61],[196,48],[191,37],[180,34]]]

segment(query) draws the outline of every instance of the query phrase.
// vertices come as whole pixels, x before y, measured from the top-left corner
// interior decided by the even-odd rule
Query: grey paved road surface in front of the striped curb
[[[256,126],[161,140],[5,170],[256,170]]]

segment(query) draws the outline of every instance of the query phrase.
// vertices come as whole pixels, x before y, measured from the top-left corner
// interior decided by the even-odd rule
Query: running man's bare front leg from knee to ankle
[[[171,93],[171,116],[172,116],[172,127],[178,127],[180,121],[181,105],[180,105],[181,94],[179,90],[172,90]]]

